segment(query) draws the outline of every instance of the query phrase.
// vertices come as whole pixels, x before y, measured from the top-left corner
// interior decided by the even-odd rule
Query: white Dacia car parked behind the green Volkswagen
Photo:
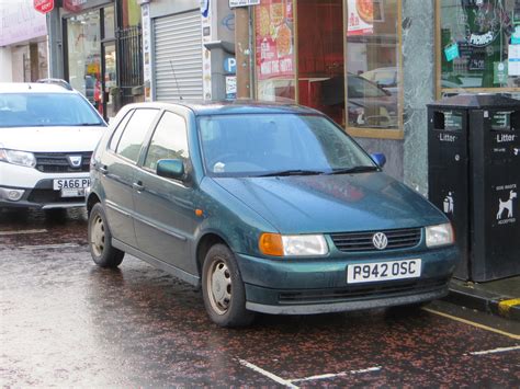
[[[0,208],[84,206],[90,158],[105,127],[77,91],[0,83]]]

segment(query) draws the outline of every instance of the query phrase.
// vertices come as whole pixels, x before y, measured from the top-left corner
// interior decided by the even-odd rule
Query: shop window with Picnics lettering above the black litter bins
[[[438,90],[520,92],[518,0],[438,1]]]

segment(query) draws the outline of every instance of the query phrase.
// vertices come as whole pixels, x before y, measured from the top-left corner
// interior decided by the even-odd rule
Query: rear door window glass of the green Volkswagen
[[[115,152],[137,162],[140,147],[159,110],[135,110],[126,125]]]

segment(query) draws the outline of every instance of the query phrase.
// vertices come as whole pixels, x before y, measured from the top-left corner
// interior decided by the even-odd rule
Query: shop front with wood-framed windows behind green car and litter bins
[[[520,95],[516,0],[261,0],[252,15],[255,98],[326,113],[425,194],[426,104]]]

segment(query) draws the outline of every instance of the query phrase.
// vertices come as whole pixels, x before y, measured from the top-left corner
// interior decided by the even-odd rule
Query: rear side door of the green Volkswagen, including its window
[[[114,131],[101,165],[106,218],[112,236],[136,247],[134,229],[134,176],[146,135],[159,110],[138,108],[129,112]]]

